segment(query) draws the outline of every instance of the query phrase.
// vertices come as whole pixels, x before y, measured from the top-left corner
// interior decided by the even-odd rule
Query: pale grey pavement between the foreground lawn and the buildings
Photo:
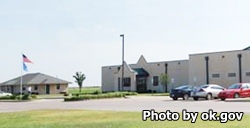
[[[0,112],[15,112],[40,109],[84,109],[84,110],[114,110],[142,111],[151,110],[181,112],[245,112],[250,114],[250,102],[225,102],[220,100],[192,99],[173,101],[165,96],[131,96],[128,98],[99,99],[88,101],[64,102],[63,99],[41,99],[29,102],[0,102]]]

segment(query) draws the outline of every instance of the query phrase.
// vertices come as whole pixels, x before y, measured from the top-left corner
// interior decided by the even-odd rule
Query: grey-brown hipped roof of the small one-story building
[[[3,82],[1,85],[20,85],[21,77],[17,77],[6,82]],[[34,85],[34,84],[70,84],[66,80],[58,79],[49,75],[42,73],[30,73],[22,76],[23,85]]]

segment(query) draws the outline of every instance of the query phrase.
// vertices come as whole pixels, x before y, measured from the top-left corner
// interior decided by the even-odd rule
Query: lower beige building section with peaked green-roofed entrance
[[[188,60],[147,62],[141,56],[136,64],[124,65],[124,86],[122,86],[122,67],[102,67],[102,91],[137,91],[147,92],[154,90],[164,92],[161,85],[161,74],[167,73],[172,83],[167,90],[177,85],[188,84]]]

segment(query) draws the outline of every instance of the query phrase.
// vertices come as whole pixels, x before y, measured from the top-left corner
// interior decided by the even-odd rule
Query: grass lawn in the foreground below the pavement
[[[249,128],[250,115],[242,121],[142,121],[141,112],[38,110],[0,113],[0,128]]]

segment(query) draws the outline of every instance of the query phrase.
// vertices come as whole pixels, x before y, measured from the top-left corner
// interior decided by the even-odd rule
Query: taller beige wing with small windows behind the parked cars
[[[213,83],[228,87],[241,82],[250,82],[249,48],[189,56],[190,84]]]

